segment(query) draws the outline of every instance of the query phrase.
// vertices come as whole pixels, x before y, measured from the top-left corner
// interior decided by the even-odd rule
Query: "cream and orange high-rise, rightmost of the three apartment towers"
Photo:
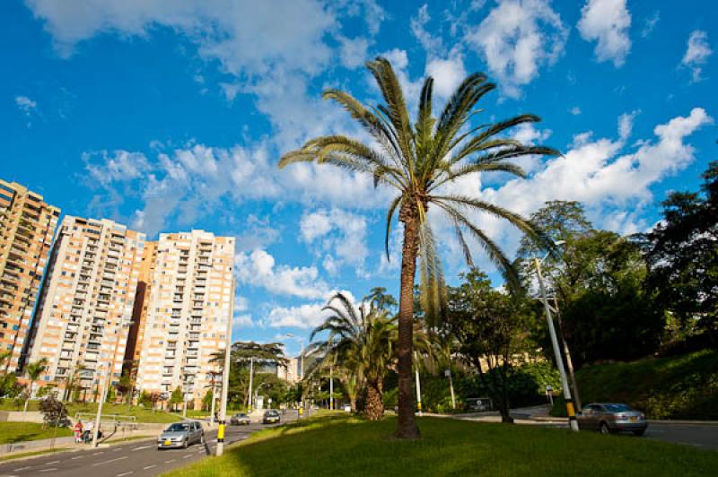
[[[213,355],[232,332],[234,239],[204,230],[164,233],[156,245],[144,320],[137,389],[167,393],[180,387],[201,403],[216,370]]]

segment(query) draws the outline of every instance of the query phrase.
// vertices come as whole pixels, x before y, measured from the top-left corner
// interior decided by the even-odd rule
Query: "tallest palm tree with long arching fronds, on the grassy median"
[[[311,139],[301,149],[287,152],[279,167],[293,162],[330,164],[372,176],[375,186],[396,190],[387,214],[386,248],[389,256],[391,224],[398,212],[404,224],[401,283],[398,312],[398,427],[397,438],[418,438],[412,394],[412,323],[416,258],[419,263],[422,301],[430,317],[439,317],[445,301],[442,266],[436,255],[433,232],[428,221],[429,204],[451,220],[464,255],[471,254],[464,234],[475,239],[511,283],[518,278],[500,247],[466,212],[486,212],[509,221],[530,238],[542,241],[530,221],[495,204],[452,193],[449,187],[460,178],[478,172],[502,171],[524,177],[523,170],[510,160],[530,154],[556,155],[544,146],[528,146],[502,134],[512,126],[533,123],[538,117],[527,114],[494,123],[473,126],[478,100],[495,90],[484,74],[470,74],[444,106],[433,116],[433,79],[426,78],[419,98],[416,123],[412,124],[401,86],[390,62],[377,58],[367,63],[379,85],[385,104],[364,106],[344,91],[329,89],[324,98],[335,100],[372,135],[364,144],[344,135]]]

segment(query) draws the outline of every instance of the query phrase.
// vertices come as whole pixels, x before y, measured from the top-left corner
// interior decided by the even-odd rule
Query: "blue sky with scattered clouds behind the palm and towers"
[[[367,59],[390,58],[410,104],[426,74],[442,102],[483,71],[500,88],[482,121],[543,118],[513,134],[564,157],[522,161],[526,180],[454,186],[517,212],[580,200],[597,227],[646,230],[667,192],[695,189],[716,159],[714,2],[11,0],[0,13],[0,176],[151,237],[236,236],[234,338],[290,352],[282,336],[306,336],[331,291],[398,288],[398,232],[395,259],[382,257],[388,191],[276,169],[313,135],[363,137],[320,91],[378,100]],[[515,230],[476,219],[515,249]],[[456,282],[460,249],[433,220]]]

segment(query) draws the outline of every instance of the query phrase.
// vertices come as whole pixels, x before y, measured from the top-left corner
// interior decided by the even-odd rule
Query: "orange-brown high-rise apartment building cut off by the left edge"
[[[0,352],[6,371],[22,366],[32,309],[60,210],[20,184],[0,180]]]

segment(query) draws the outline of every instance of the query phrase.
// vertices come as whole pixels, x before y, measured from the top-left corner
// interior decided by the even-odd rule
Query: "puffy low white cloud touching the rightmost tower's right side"
[[[238,282],[277,295],[316,299],[328,291],[315,266],[276,265],[275,257],[262,249],[234,256],[234,270]]]

